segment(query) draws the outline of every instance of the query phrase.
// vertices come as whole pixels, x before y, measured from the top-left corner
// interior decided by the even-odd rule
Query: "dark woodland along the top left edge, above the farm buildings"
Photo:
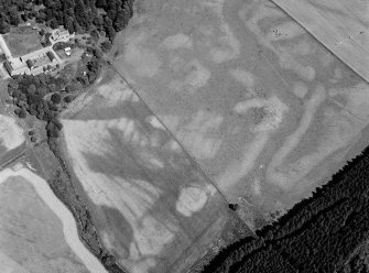
[[[0,33],[35,19],[70,33],[105,32],[111,41],[132,17],[133,0],[0,0]]]

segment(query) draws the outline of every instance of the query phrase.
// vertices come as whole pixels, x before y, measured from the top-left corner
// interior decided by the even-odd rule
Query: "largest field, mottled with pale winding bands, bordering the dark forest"
[[[271,1],[138,0],[112,54],[251,229],[368,144],[368,84]]]

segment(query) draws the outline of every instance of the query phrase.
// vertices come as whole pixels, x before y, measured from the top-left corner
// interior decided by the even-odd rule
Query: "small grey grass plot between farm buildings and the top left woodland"
[[[31,26],[12,28],[10,33],[2,36],[13,57],[19,57],[43,47],[37,30],[32,30]]]

